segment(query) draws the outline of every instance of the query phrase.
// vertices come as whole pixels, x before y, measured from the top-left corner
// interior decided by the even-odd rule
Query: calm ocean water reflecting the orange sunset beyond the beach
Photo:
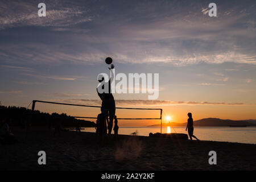
[[[87,132],[95,132],[94,128],[84,128]],[[119,127],[118,133],[148,136],[149,133],[160,133],[160,127]],[[185,133],[185,127],[162,127],[162,133]],[[220,142],[238,142],[256,144],[256,127],[195,127],[194,135],[200,140],[212,140]]]

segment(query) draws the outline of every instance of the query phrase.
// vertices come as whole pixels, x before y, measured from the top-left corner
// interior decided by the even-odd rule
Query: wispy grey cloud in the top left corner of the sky
[[[65,27],[92,20],[85,7],[70,7],[61,1],[46,3],[46,17],[38,16],[38,6],[32,1],[0,2],[0,7],[0,30],[20,26]]]

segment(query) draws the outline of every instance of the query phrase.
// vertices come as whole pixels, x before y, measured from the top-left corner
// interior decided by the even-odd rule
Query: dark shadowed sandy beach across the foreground
[[[19,143],[0,146],[1,170],[255,170],[256,145],[119,135],[97,144],[94,133],[13,129]],[[47,165],[38,164],[46,151]],[[217,165],[209,165],[209,151]]]

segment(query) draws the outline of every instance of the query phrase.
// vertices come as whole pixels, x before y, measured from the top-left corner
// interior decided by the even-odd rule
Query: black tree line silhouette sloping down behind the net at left
[[[32,111],[26,107],[16,106],[0,106],[0,121],[11,121],[12,126],[25,127],[27,123],[32,126],[55,126],[61,124],[62,127],[76,127],[77,123],[81,127],[95,127],[96,123],[91,121],[85,121],[82,119],[76,119],[65,113],[43,113],[39,110]]]

